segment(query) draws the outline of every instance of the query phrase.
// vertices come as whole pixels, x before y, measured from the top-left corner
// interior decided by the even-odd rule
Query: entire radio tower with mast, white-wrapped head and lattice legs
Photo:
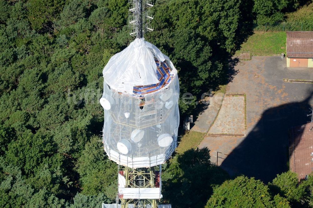
[[[118,165],[115,204],[103,208],[171,208],[162,198],[162,164],[177,147],[179,79],[168,56],[144,40],[153,31],[147,0],[129,0],[136,39],[103,69],[104,150]]]

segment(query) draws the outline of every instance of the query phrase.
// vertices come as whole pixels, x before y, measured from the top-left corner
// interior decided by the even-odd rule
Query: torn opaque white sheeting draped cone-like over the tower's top
[[[172,68],[171,74],[177,74],[169,58],[155,45],[146,42],[144,38],[136,38],[123,51],[110,58],[103,69],[103,77],[113,89],[131,94],[134,86],[159,82],[154,57],[162,62],[167,60]]]

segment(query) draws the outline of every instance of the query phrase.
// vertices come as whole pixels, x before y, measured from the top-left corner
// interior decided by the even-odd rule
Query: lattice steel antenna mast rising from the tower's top
[[[128,25],[131,29],[129,34],[136,38],[142,38],[146,32],[153,31],[150,27],[153,17],[151,17],[149,10],[153,4],[148,3],[148,0],[128,0],[128,3],[131,7],[128,12]]]

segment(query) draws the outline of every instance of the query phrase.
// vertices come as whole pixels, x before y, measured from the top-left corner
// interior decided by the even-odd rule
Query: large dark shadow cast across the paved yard
[[[265,183],[272,181],[276,174],[289,170],[288,130],[307,123],[312,96],[313,90],[301,102],[290,102],[264,111],[221,167],[231,176],[243,174]]]

